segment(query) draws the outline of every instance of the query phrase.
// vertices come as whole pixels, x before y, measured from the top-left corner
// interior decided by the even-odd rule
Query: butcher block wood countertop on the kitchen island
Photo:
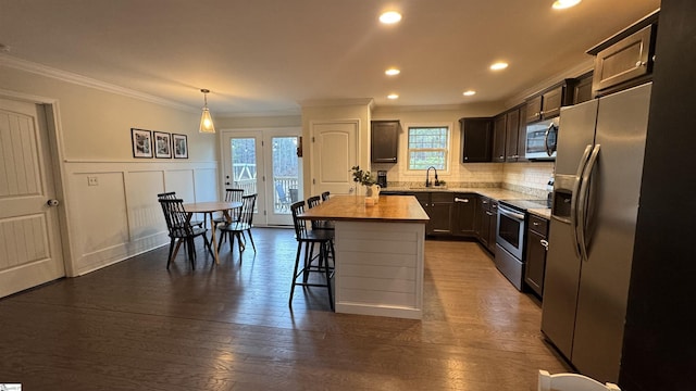
[[[362,195],[332,195],[319,206],[304,209],[303,219],[374,223],[422,223],[430,217],[412,195],[380,197],[374,205],[365,205]]]

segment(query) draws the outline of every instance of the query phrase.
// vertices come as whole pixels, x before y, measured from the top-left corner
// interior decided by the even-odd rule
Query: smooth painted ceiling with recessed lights
[[[213,115],[299,114],[323,100],[377,108],[504,102],[585,64],[585,51],[659,0],[0,1],[2,55]],[[397,10],[397,25],[377,22]],[[510,66],[493,72],[495,61]],[[401,74],[387,77],[396,66]],[[560,77],[560,76],[559,76]],[[473,97],[462,92],[476,90]],[[400,98],[391,101],[388,93]]]

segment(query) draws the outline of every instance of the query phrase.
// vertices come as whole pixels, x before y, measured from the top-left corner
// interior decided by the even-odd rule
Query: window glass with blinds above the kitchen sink
[[[409,169],[447,169],[448,127],[409,127]]]

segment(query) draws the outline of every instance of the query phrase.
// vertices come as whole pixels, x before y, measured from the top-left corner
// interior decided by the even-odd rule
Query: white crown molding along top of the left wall
[[[128,98],[134,98],[134,99],[138,99],[138,100],[150,102],[150,103],[156,103],[164,106],[170,106],[170,108],[183,110],[186,112],[197,113],[200,111],[198,109],[194,109],[186,104],[182,104],[167,99],[151,96],[149,93],[112,85],[112,84],[97,80],[90,77],[74,74],[72,72],[57,70],[47,65],[37,64],[34,62],[17,59],[8,54],[0,54],[0,66],[7,66],[7,67],[24,71],[24,72],[29,72],[33,74],[62,80],[65,83],[88,87],[88,88],[94,88],[101,91],[111,92],[111,93],[115,93],[115,94],[120,94]]]

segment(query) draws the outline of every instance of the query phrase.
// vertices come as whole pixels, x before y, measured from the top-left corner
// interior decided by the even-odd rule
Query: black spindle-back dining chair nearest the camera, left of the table
[[[192,226],[188,220],[188,213],[184,210],[184,201],[179,199],[162,199],[159,200],[162,205],[162,212],[164,213],[164,219],[166,220],[166,228],[170,236],[170,254],[166,260],[166,268],[170,268],[172,260],[176,256],[178,248],[182,243],[185,243],[187,250],[188,260],[191,263],[191,269],[196,269],[196,244],[195,239],[199,236],[203,237],[206,248],[210,252],[210,255],[215,256],[212,251],[212,247],[206,236],[207,229],[203,227]],[[176,248],[174,244],[176,242]]]

